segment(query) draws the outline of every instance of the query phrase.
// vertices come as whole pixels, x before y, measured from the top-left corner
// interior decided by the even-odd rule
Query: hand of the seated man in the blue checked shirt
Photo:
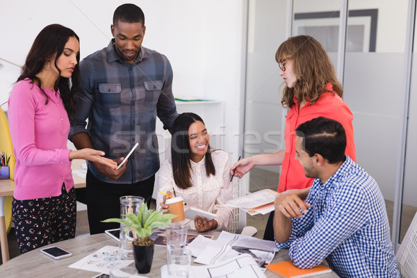
[[[302,212],[307,213],[307,208],[310,207],[310,204],[302,202],[298,193],[293,193],[296,190],[288,190],[284,193],[278,195],[275,198],[274,205],[275,211],[279,211],[284,214],[287,218],[298,218],[302,217]]]

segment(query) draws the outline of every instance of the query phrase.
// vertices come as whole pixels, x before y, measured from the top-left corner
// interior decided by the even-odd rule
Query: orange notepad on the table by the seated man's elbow
[[[268,270],[275,272],[279,277],[284,278],[302,278],[313,277],[332,272],[330,268],[324,265],[317,265],[315,268],[301,269],[297,268],[292,261],[284,261],[282,263],[272,263],[265,265]]]

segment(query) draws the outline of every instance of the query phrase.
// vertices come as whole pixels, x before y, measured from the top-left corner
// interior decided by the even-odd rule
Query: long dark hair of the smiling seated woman
[[[171,159],[172,159],[172,174],[174,175],[175,184],[179,188],[190,188],[191,183],[191,163],[190,163],[190,140],[188,139],[188,129],[194,122],[203,122],[202,118],[195,113],[182,113],[175,119],[172,125],[172,140],[171,140]],[[215,167],[211,159],[210,144],[207,146],[205,156],[206,175],[210,177],[215,175]]]

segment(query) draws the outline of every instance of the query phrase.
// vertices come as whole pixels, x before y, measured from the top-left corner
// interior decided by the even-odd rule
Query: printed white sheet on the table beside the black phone
[[[124,268],[133,263],[133,260],[121,260],[119,252],[119,247],[107,245],[68,267],[110,274],[113,268]]]

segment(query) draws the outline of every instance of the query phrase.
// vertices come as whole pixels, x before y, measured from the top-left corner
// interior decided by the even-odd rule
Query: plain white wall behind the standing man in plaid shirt
[[[125,1],[1,1],[0,58],[23,65],[35,36],[48,24],[72,28],[81,41],[81,58],[106,47],[113,12]],[[170,59],[175,96],[197,96],[225,103],[225,129],[238,134],[243,103],[245,9],[242,0],[132,1],[145,13],[143,45]],[[24,8],[22,8],[24,7]],[[0,61],[0,104],[7,101],[19,68]],[[7,105],[2,106],[7,110]],[[216,127],[217,128],[217,127]],[[238,157],[233,139],[224,147]],[[236,159],[235,158],[235,159]]]

